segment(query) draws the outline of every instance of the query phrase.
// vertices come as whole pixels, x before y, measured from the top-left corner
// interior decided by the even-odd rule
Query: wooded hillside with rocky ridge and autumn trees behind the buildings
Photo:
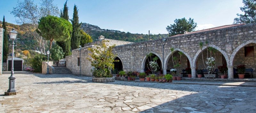
[[[7,22],[6,22],[7,23]],[[0,21],[0,25],[2,26],[2,22]],[[7,31],[11,31],[12,28],[15,28],[16,31],[18,31],[19,35],[17,38],[20,38],[18,40],[18,49],[20,50],[38,50],[39,48],[38,43],[35,39],[33,39],[32,35],[30,34],[30,31],[27,30],[27,28],[24,25],[15,25],[12,23],[7,23]],[[129,41],[129,42],[140,42],[140,41],[147,41],[148,40],[148,34],[132,34],[130,32],[121,32],[119,30],[105,30],[101,29],[100,27],[96,25],[91,25],[89,23],[82,23],[81,29],[83,29],[86,33],[92,36],[93,41],[98,40],[98,37],[100,35],[104,36],[108,39],[114,39],[114,40],[122,40],[122,41]],[[9,37],[9,34],[7,34],[7,37]],[[168,37],[168,34],[162,34],[161,37]],[[158,39],[159,35],[150,35],[150,40],[152,39]],[[11,40],[9,40],[9,43]],[[16,44],[16,42],[15,42]],[[47,48],[47,45],[45,48]]]

